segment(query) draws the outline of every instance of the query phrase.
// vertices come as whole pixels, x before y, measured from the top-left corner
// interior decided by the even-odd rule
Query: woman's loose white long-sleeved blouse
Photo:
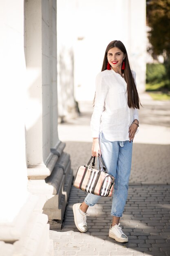
[[[132,75],[135,80],[134,71]],[[113,69],[97,75],[95,106],[91,117],[92,138],[98,138],[102,131],[109,141],[129,140],[129,127],[139,117],[137,109],[128,107],[126,90],[126,81]]]

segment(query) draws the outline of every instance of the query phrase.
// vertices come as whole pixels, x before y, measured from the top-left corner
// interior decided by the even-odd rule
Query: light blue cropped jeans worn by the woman
[[[99,135],[99,144],[108,173],[115,177],[111,215],[121,217],[128,197],[128,182],[132,162],[132,141],[108,141],[103,132]],[[88,193],[84,202],[93,206],[101,198]]]

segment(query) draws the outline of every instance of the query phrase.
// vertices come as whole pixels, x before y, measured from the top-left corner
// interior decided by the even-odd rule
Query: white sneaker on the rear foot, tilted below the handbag
[[[81,205],[81,203],[73,204],[74,222],[75,222],[77,229],[80,232],[86,232],[87,231],[86,217],[89,214],[81,211],[79,209],[80,205]]]

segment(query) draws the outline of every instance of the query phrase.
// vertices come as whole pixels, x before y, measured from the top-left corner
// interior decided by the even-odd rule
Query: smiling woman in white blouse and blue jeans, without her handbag
[[[112,41],[106,48],[102,72],[96,78],[95,105],[91,118],[92,156],[102,155],[108,173],[115,177],[109,237],[128,242],[119,227],[128,196],[132,160],[132,142],[139,126],[139,96],[136,74],[130,70],[128,54],[121,41]],[[87,231],[86,216],[100,196],[88,193],[84,202],[73,205],[75,225]]]

